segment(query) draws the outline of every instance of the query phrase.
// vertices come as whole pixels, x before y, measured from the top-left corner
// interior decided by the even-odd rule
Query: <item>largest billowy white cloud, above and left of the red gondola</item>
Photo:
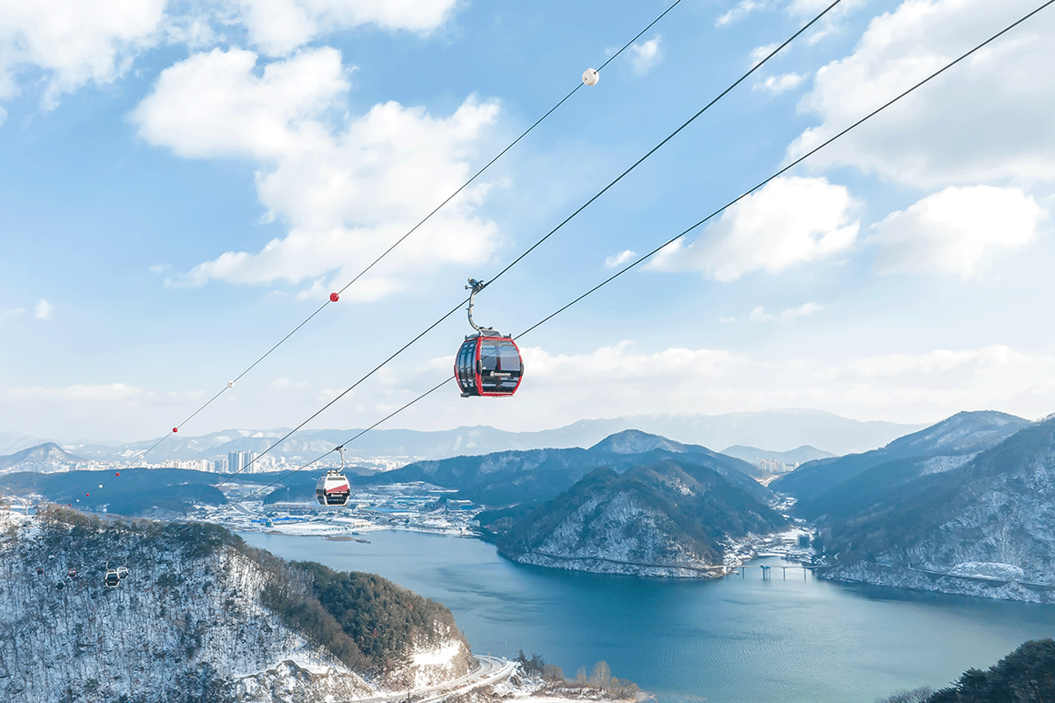
[[[304,294],[328,294],[327,277],[346,282],[467,179],[473,145],[498,114],[497,103],[469,97],[447,117],[397,102],[348,115],[335,50],[304,51],[263,71],[256,62],[241,50],[194,55],[164,71],[133,115],[143,138],[179,155],[260,164],[268,218],[290,226],[258,253],[228,251],[176,284],[311,279]],[[463,191],[351,299],[398,289],[407,270],[482,261],[497,243],[494,224],[475,215],[486,190]]]

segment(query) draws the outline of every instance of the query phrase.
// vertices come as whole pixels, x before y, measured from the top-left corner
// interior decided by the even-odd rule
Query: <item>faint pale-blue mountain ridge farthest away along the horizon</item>
[[[881,446],[919,424],[860,422],[821,411],[787,410],[724,415],[639,415],[609,419],[581,420],[562,428],[537,432],[507,432],[488,426],[457,428],[437,432],[413,430],[375,430],[353,444],[350,456],[361,458],[408,457],[442,459],[458,455],[479,455],[506,450],[533,450],[573,446],[587,448],[624,430],[639,430],[672,441],[705,446],[746,444],[783,451],[809,444],[836,454],[862,452]],[[151,452],[152,460],[215,459],[228,452],[261,453],[289,431],[225,430],[202,436],[180,432],[171,435]],[[322,452],[344,443],[358,430],[304,430],[276,446],[272,454],[287,460],[314,458]],[[5,446],[24,449],[41,443],[17,433],[0,435]],[[129,459],[151,446],[155,439],[114,444],[111,442],[63,442],[68,452],[85,459]],[[13,451],[13,450],[12,450]]]

